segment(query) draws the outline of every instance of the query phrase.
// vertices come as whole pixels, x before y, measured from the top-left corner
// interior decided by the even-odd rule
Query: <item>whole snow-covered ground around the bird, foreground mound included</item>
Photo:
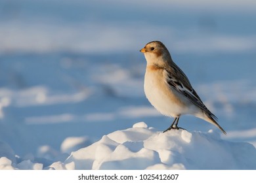
[[[0,169],[256,169],[255,2],[179,2],[1,1]],[[172,119],[144,97],[139,52],[153,40],[227,135],[192,116],[160,133]]]

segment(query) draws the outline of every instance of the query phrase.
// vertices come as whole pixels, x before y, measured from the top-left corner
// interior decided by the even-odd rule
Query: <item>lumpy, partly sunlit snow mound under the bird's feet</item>
[[[213,130],[162,133],[140,122],[46,169],[256,169],[255,157],[252,144],[224,141]]]

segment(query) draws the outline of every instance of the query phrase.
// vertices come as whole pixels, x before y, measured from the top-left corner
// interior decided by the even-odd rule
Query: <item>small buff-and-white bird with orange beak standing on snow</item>
[[[217,123],[218,118],[203,104],[188,77],[174,63],[162,42],[148,42],[140,52],[146,58],[146,98],[161,114],[174,118],[163,133],[171,129],[183,129],[178,127],[179,118],[190,114],[217,126],[226,135],[226,131]]]

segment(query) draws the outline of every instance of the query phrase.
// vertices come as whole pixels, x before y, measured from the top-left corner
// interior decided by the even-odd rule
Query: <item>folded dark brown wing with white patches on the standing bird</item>
[[[177,92],[184,95],[189,99],[194,105],[201,108],[212,118],[217,120],[217,117],[209,111],[209,109],[203,104],[202,100],[198,96],[198,93],[192,88],[187,76],[183,71],[177,66],[165,69],[166,71],[166,82],[170,88],[173,88]]]

